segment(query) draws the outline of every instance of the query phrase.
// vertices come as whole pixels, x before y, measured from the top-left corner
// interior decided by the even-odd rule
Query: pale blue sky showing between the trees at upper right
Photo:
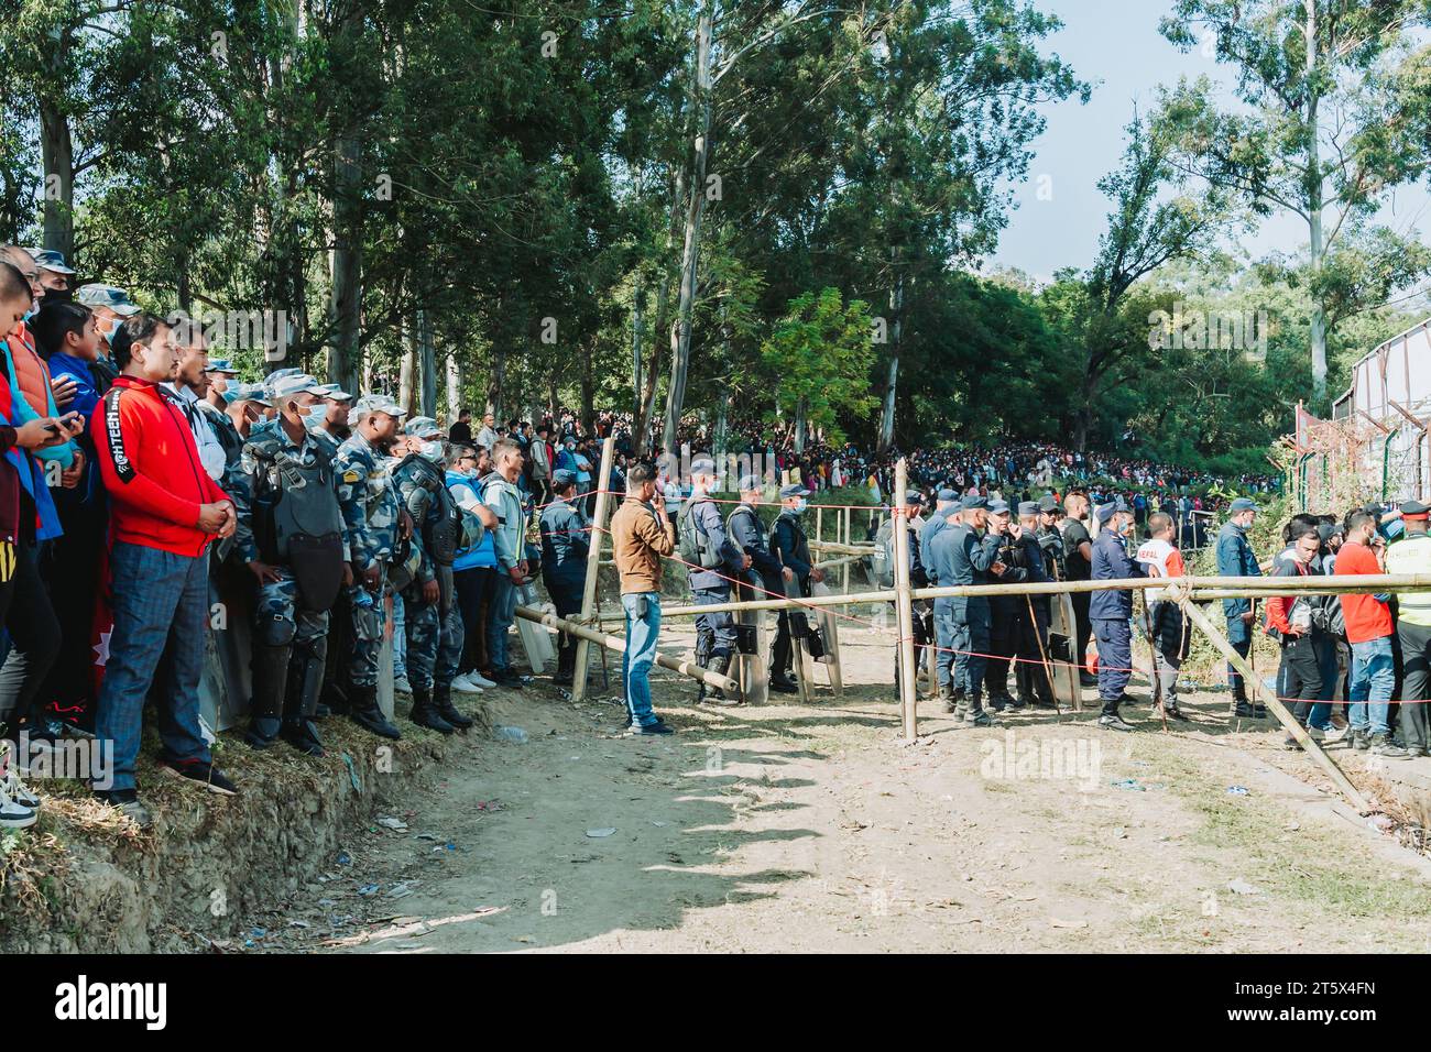
[[[1047,279],[1062,266],[1086,268],[1098,250],[1108,218],[1108,199],[1098,180],[1116,166],[1123,150],[1123,127],[1138,104],[1146,110],[1158,84],[1175,84],[1181,76],[1206,73],[1224,86],[1232,70],[1205,59],[1193,49],[1183,54],[1158,33],[1158,20],[1171,0],[1035,0],[1039,10],[1058,14],[1065,27],[1045,42],[1073,72],[1093,84],[1086,106],[1069,100],[1045,107],[1047,129],[1033,143],[1029,180],[1015,187],[1017,209],[986,263],[1016,266]],[[1052,200],[1039,200],[1040,176]],[[1418,229],[1422,240],[1431,230],[1431,195],[1427,183],[1404,186],[1384,209],[1381,222],[1398,230]],[[1272,250],[1296,252],[1307,228],[1296,216],[1268,219],[1242,242],[1254,256]]]

